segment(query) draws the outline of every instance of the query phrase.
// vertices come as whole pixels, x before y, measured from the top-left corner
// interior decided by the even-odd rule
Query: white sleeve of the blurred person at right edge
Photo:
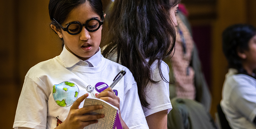
[[[245,118],[253,122],[256,116],[256,87],[244,81],[230,94],[230,102]]]

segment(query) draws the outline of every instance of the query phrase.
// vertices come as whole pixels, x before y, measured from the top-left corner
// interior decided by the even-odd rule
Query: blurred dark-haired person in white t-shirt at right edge
[[[256,28],[236,24],[222,34],[228,60],[220,106],[232,129],[256,129]]]

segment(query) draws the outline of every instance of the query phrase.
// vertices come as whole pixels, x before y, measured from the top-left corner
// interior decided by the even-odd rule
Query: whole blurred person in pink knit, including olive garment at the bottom
[[[216,129],[210,116],[211,95],[204,78],[186,17],[185,6],[179,4],[178,34],[175,52],[164,61],[169,65],[170,100],[173,109],[167,116],[168,129]]]

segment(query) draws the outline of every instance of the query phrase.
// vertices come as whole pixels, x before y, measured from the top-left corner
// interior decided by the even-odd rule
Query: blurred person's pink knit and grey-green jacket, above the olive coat
[[[183,11],[186,9],[180,5],[182,4],[179,4],[176,16],[178,34],[176,36],[175,52],[164,60],[170,69],[170,99],[178,97],[195,100],[203,104],[204,108],[209,111],[211,94],[202,71],[186,11]]]

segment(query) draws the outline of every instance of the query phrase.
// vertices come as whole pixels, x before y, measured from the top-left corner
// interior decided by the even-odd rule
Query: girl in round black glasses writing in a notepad
[[[50,0],[49,15],[63,50],[28,71],[13,128],[83,129],[106,117],[88,115],[102,105],[83,107],[86,97],[96,97],[120,110],[124,129],[148,129],[132,73],[101,56],[105,17],[101,0]],[[125,76],[113,89],[108,88],[121,70],[126,71]],[[96,89],[98,84],[105,89]]]

